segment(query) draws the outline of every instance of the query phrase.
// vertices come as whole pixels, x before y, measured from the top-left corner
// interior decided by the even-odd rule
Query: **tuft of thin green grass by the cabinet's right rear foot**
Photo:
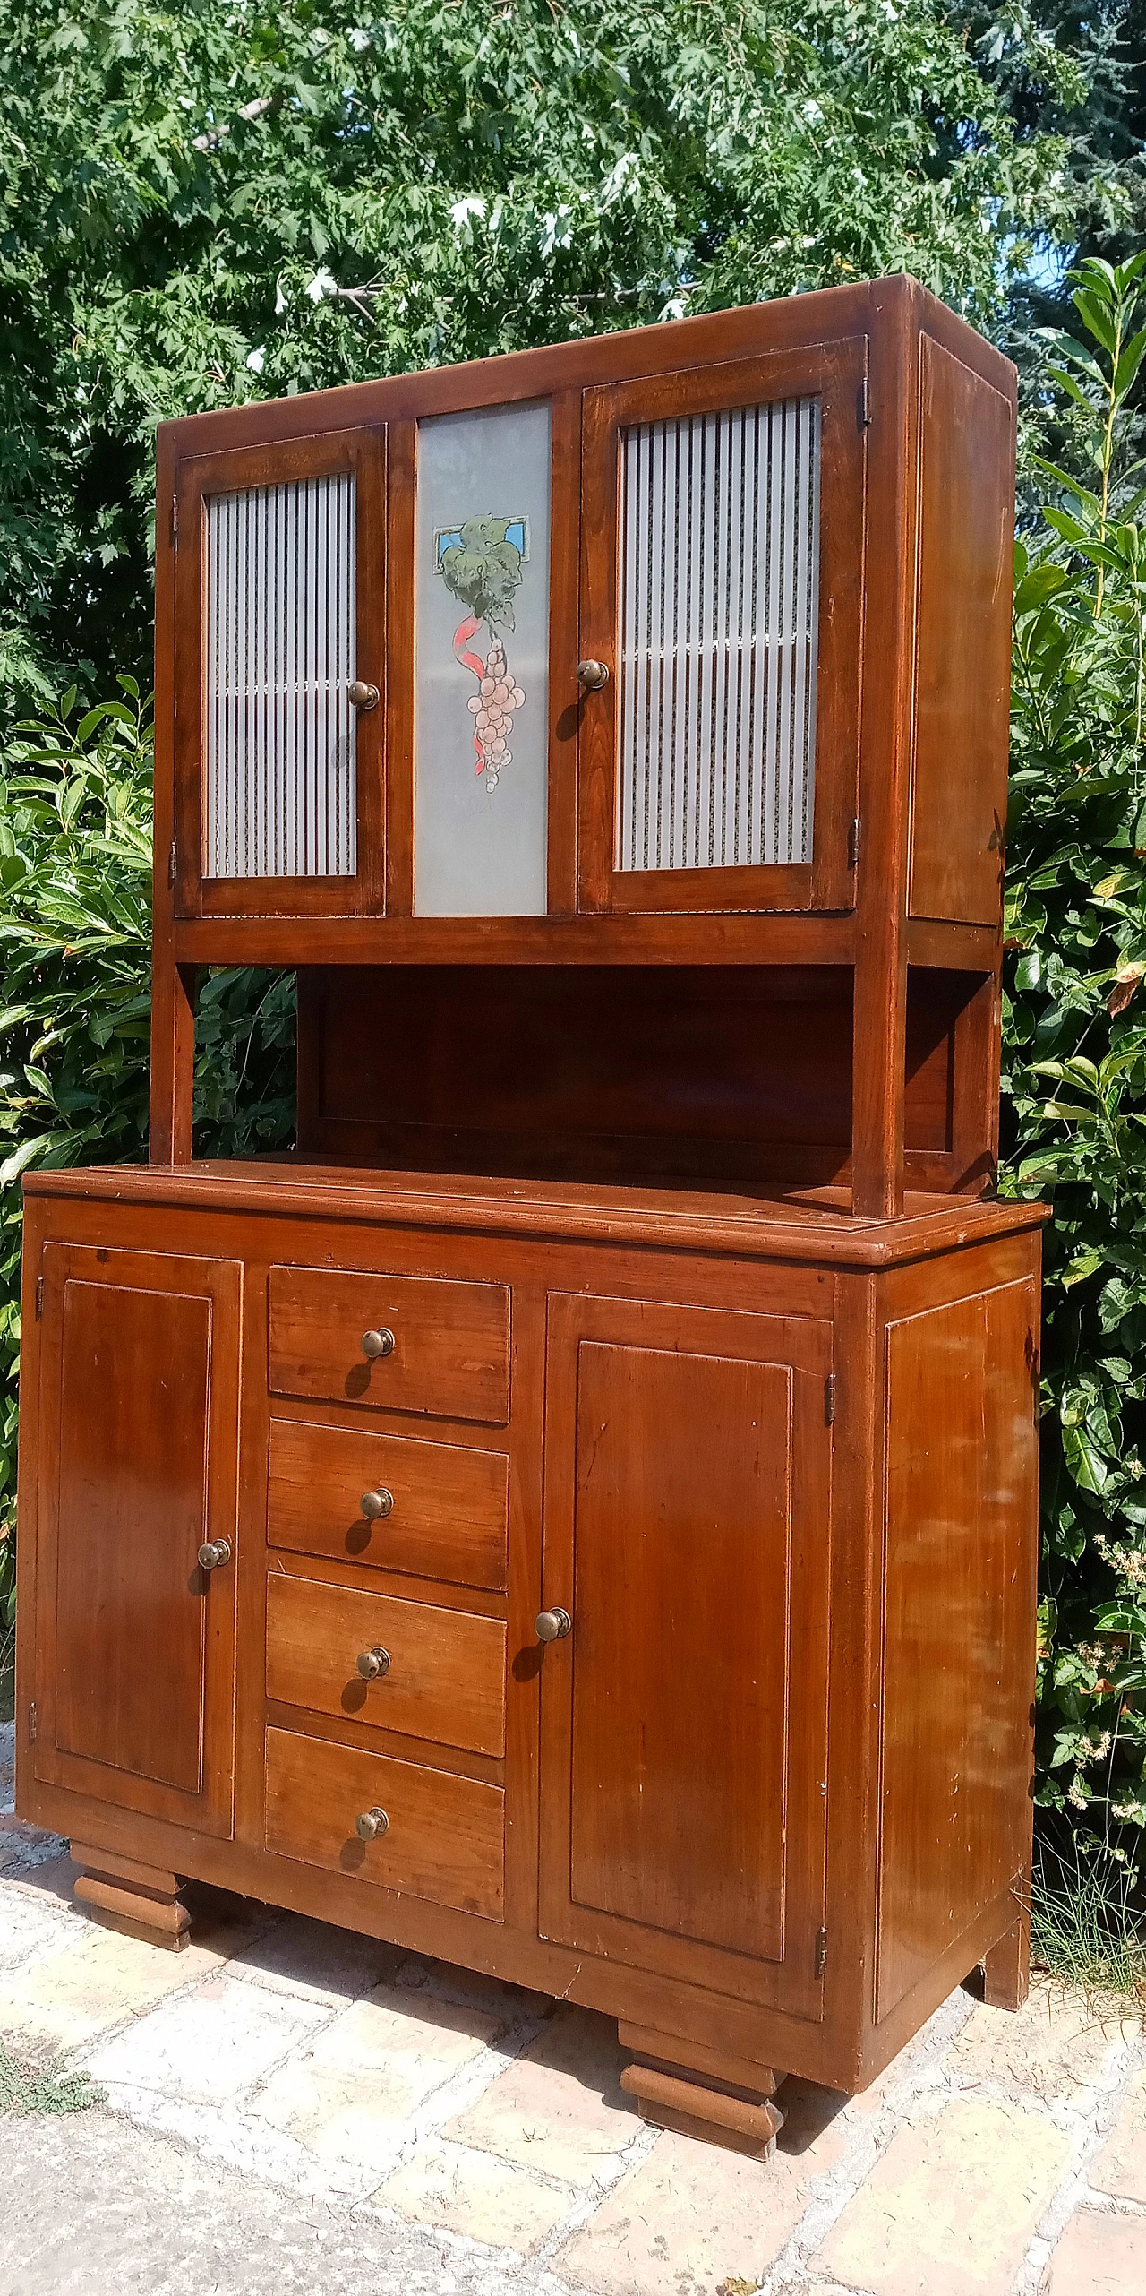
[[[1125,1995],[1146,2014],[1146,1901],[1125,1853],[1073,1828],[1036,1835],[1031,1958],[1063,1984]]]

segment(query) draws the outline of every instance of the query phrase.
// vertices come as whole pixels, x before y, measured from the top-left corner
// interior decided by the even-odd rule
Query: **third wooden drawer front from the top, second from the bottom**
[[[358,1653],[379,1649],[390,1660],[386,1671],[363,1678]],[[266,1697],[501,1756],[505,1628],[501,1619],[271,1570]]]

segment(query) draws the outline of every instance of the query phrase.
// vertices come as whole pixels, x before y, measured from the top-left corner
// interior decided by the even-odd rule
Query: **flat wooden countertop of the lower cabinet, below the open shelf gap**
[[[195,1162],[25,1173],[25,1196],[124,1205],[363,1221],[386,1228],[645,1244],[735,1258],[886,1267],[1036,1228],[1043,1203],[907,1194],[898,1219],[850,1210],[843,1187],[728,1192],[489,1180],[469,1173],[372,1171],[344,1164]]]

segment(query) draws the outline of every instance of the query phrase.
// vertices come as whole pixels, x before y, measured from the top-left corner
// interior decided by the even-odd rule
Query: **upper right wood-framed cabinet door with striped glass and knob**
[[[583,402],[583,909],[850,907],[864,342]]]

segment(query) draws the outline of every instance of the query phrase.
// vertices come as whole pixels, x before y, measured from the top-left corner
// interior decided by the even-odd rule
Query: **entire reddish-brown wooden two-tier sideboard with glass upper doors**
[[[99,1919],[590,2002],[758,2156],[1022,1998],[1013,461],[907,278],[161,425],[152,1162],[25,1176],[18,1809]]]

